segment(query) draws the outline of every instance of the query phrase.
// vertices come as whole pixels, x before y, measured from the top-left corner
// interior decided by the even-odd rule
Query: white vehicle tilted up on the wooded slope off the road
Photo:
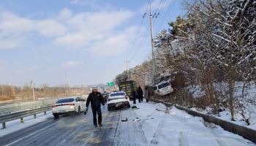
[[[170,85],[170,82],[161,82],[154,86],[154,93],[160,96],[165,96],[172,92],[173,92],[173,88]]]

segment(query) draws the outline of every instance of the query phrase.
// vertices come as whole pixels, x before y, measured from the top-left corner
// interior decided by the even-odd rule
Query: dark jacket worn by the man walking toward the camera
[[[87,101],[86,101],[86,107],[89,107],[89,104],[91,102],[91,108],[100,108],[100,104],[105,105],[105,101],[102,97],[102,94],[97,92],[96,94],[90,93]]]

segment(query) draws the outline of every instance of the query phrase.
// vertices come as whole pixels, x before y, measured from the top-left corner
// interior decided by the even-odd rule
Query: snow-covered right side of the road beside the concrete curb
[[[247,139],[223,130],[202,118],[193,117],[175,107],[163,104],[136,104],[134,110],[146,135],[148,145],[255,145]]]

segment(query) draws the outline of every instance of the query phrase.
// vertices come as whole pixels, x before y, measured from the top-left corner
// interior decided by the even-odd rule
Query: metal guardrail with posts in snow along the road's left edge
[[[30,115],[34,115],[34,118],[37,118],[37,114],[44,112],[46,115],[46,112],[51,110],[50,106],[46,107],[39,107],[32,110],[23,110],[20,112],[13,112],[6,115],[0,115],[0,123],[2,123],[2,127],[6,128],[6,122],[11,120],[20,119],[20,122],[23,123],[23,118],[28,117]]]

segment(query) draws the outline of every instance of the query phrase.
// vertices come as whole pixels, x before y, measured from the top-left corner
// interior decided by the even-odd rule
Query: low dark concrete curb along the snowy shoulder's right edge
[[[162,104],[165,104],[167,107],[170,107],[170,106],[173,105],[171,103],[168,103],[168,102],[165,102],[165,101],[160,101],[160,100],[155,100],[155,99],[152,99],[151,101],[160,102]],[[241,137],[244,137],[245,139],[249,139],[252,142],[256,143],[256,131],[251,129],[251,128],[246,128],[244,126],[239,126],[239,125],[237,125],[235,123],[231,123],[231,122],[228,122],[226,120],[222,120],[222,119],[219,119],[219,118],[212,117],[210,115],[205,115],[205,114],[200,113],[200,112],[189,110],[188,108],[181,107],[179,105],[175,105],[175,107],[178,110],[186,111],[189,115],[193,115],[193,116],[197,116],[197,117],[202,117],[203,120],[205,120],[205,121],[207,121],[209,123],[214,123],[214,124],[216,124],[218,126],[221,126],[226,131],[230,131],[230,132],[232,132],[234,134],[238,134]]]

